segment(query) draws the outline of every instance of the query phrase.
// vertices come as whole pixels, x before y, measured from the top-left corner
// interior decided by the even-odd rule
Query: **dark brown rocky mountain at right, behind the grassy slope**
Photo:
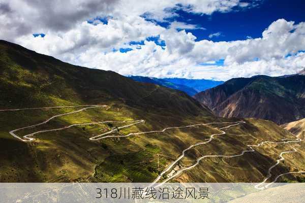
[[[218,116],[283,124],[305,117],[305,76],[234,78],[194,98]]]

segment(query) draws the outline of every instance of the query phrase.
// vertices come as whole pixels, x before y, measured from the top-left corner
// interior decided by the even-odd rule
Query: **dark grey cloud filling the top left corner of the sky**
[[[0,22],[4,30],[0,37],[14,40],[16,37],[35,32],[66,31],[88,16],[111,12],[116,3],[117,0],[1,0],[1,8],[6,8],[10,12],[0,13]]]

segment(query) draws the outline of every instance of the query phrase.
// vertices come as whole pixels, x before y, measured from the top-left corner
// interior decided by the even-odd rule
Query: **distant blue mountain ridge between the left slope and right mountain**
[[[138,82],[153,83],[162,85],[168,88],[177,89],[186,92],[190,96],[194,96],[196,93],[209,89],[224,83],[223,81],[213,80],[192,80],[184,78],[153,78],[143,76],[129,76],[129,78]]]

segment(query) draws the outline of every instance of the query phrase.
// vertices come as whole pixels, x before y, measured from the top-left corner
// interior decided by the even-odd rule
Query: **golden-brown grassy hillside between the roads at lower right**
[[[215,141],[213,146],[201,147],[198,149],[200,154],[233,155],[242,150],[249,149],[246,144],[258,144],[262,141],[281,142],[280,138],[295,138],[292,134],[279,128],[276,124],[261,119],[246,119],[247,124],[227,130],[227,135],[218,137],[220,142]],[[228,145],[228,143],[231,145]],[[282,151],[290,150],[294,146],[298,153],[286,154],[285,164],[281,163],[272,170],[272,174],[282,174],[289,171],[299,171],[305,167],[304,143],[301,144],[264,144],[261,147],[254,147],[257,152],[248,152],[244,156],[235,158],[207,158],[202,160],[198,166],[198,171],[192,170],[180,176],[180,181],[200,182],[226,182],[228,179],[238,180],[239,182],[260,182],[262,177],[267,176],[267,168],[275,163]],[[212,148],[211,148],[212,147]],[[214,148],[214,150],[213,150]],[[288,160],[290,158],[290,160]],[[257,163],[259,160],[259,164]],[[297,161],[297,163],[296,163]],[[200,173],[204,174],[199,175]],[[275,176],[272,176],[274,178]],[[286,177],[293,180],[292,175]],[[285,176],[283,177],[283,179]],[[283,180],[282,179],[282,180]]]

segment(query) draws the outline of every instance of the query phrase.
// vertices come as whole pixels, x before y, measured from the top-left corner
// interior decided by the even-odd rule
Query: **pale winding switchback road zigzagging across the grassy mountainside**
[[[43,107],[43,108],[24,108],[24,109],[8,109],[8,110],[0,110],[0,111],[21,111],[21,110],[39,110],[39,109],[55,109],[55,108],[75,108],[75,107],[85,107],[85,108],[82,108],[82,109],[76,110],[76,111],[72,111],[72,112],[69,112],[69,113],[58,114],[58,115],[50,117],[49,119],[45,120],[44,122],[41,122],[41,123],[38,123],[38,124],[35,124],[35,125],[26,126],[26,127],[21,127],[21,128],[18,128],[18,129],[14,129],[14,130],[11,130],[9,133],[13,137],[15,137],[15,138],[17,138],[17,139],[19,139],[19,140],[21,140],[23,142],[30,142],[30,141],[35,140],[34,138],[32,138],[32,136],[34,136],[34,134],[38,134],[38,133],[42,133],[42,132],[48,132],[48,131],[63,130],[63,129],[67,129],[67,128],[70,128],[70,127],[73,127],[73,126],[78,126],[78,125],[100,124],[100,123],[110,123],[110,122],[117,122],[117,123],[134,122],[134,123],[131,123],[131,124],[127,124],[127,125],[124,125],[124,126],[117,127],[115,129],[109,130],[109,131],[107,131],[105,133],[99,134],[98,136],[94,136],[92,138],[89,138],[89,140],[91,140],[91,141],[96,141],[96,140],[100,140],[100,139],[113,138],[113,137],[115,137],[115,138],[118,138],[118,137],[130,137],[130,136],[133,136],[133,135],[139,135],[139,134],[144,134],[144,133],[160,133],[160,132],[164,132],[164,131],[169,130],[169,129],[181,129],[181,128],[189,128],[189,127],[195,127],[195,126],[204,126],[204,125],[210,125],[210,124],[231,124],[231,125],[228,125],[226,127],[219,128],[219,130],[221,132],[217,133],[217,134],[211,134],[210,138],[207,141],[193,144],[193,145],[189,146],[188,148],[186,148],[185,150],[183,150],[181,155],[175,161],[170,163],[165,168],[165,170],[162,173],[160,173],[160,175],[148,187],[151,187],[151,186],[155,185],[156,183],[158,183],[158,181],[162,178],[162,176],[164,174],[169,172],[171,170],[171,168],[173,168],[173,166],[179,160],[181,160],[182,158],[185,157],[185,152],[186,151],[192,149],[195,146],[204,145],[204,144],[207,144],[207,143],[211,142],[212,139],[215,136],[226,134],[226,132],[223,129],[226,129],[226,128],[229,128],[229,127],[232,127],[232,126],[236,126],[236,125],[240,125],[240,124],[246,123],[245,121],[237,121],[237,122],[210,122],[210,123],[200,123],[200,124],[193,124],[193,125],[180,126],[180,127],[166,127],[166,128],[164,128],[162,130],[145,131],[145,132],[134,132],[134,133],[129,133],[129,134],[124,135],[124,136],[117,136],[117,135],[113,135],[113,136],[108,135],[108,136],[105,136],[106,134],[110,134],[112,132],[117,131],[117,129],[130,127],[132,125],[143,123],[145,121],[144,120],[101,121],[101,122],[71,124],[69,126],[62,127],[62,128],[54,128],[54,129],[49,129],[49,130],[40,130],[40,131],[36,131],[36,132],[30,133],[30,134],[26,134],[25,136],[23,136],[23,139],[22,139],[19,136],[17,136],[17,134],[15,134],[16,131],[21,130],[21,129],[31,128],[31,127],[35,127],[35,126],[39,126],[39,125],[45,124],[45,123],[49,122],[50,120],[52,120],[52,119],[54,119],[56,117],[59,117],[59,116],[65,116],[65,115],[69,115],[69,114],[78,113],[78,112],[84,111],[86,109],[103,108],[103,107],[107,107],[107,105],[78,105],[78,106]],[[285,140],[288,140],[288,141],[285,141]],[[226,158],[232,158],[232,157],[242,156],[246,152],[254,152],[255,150],[253,149],[253,147],[259,147],[259,146],[261,146],[261,145],[263,145],[265,143],[286,144],[286,143],[293,143],[293,142],[301,142],[301,139],[282,139],[282,142],[263,141],[263,142],[261,142],[261,143],[259,143],[257,145],[247,145],[250,148],[249,150],[243,150],[241,153],[236,154],[236,155],[204,155],[204,156],[201,156],[201,157],[197,158],[196,163],[194,163],[193,165],[185,167],[185,168],[181,168],[180,170],[176,171],[171,177],[168,177],[162,183],[160,183],[159,185],[157,185],[155,187],[160,187],[162,184],[170,181],[173,178],[176,178],[181,173],[183,173],[185,171],[188,171],[188,170],[191,170],[193,167],[198,165],[202,159],[207,158],[207,157],[226,157]],[[305,171],[299,171],[299,172],[289,172],[289,173],[285,173],[285,174],[280,174],[272,182],[270,182],[267,185],[261,187],[261,185],[265,184],[266,181],[271,178],[271,176],[272,176],[272,174],[271,174],[272,168],[276,167],[281,161],[285,160],[285,158],[283,157],[284,154],[297,152],[297,150],[295,148],[292,147],[292,149],[293,150],[281,152],[280,159],[278,159],[275,164],[273,164],[271,167],[268,168],[268,176],[261,183],[255,185],[256,189],[265,189],[265,188],[267,188],[272,183],[275,183],[278,180],[278,178],[283,176],[283,175],[295,174],[295,173],[305,173]]]

